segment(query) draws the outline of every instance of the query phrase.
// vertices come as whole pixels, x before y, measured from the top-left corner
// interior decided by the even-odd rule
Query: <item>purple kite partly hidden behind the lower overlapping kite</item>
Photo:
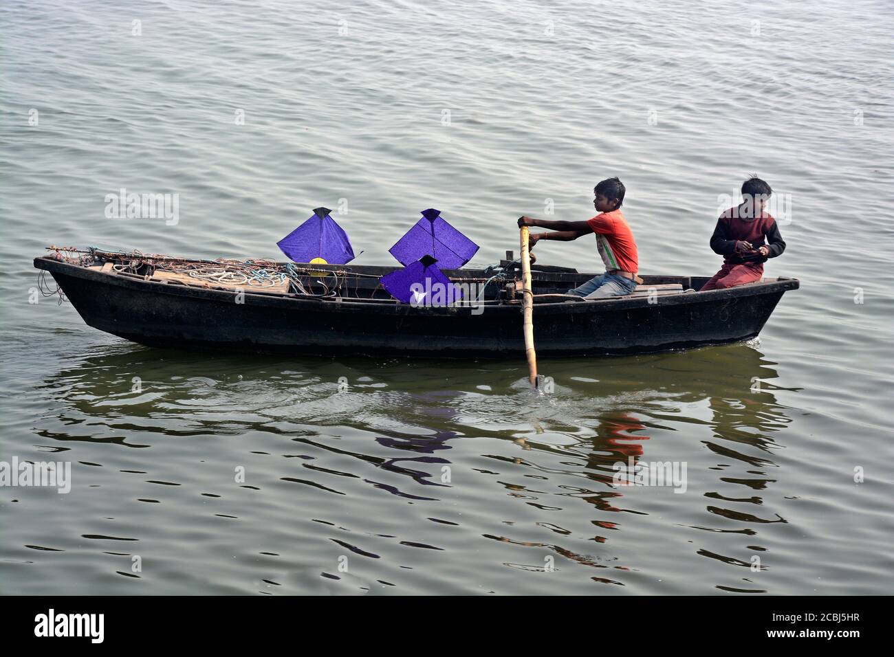
[[[409,266],[428,255],[444,269],[459,269],[472,259],[478,245],[440,215],[440,210],[423,210],[422,218],[388,249],[401,265]]]

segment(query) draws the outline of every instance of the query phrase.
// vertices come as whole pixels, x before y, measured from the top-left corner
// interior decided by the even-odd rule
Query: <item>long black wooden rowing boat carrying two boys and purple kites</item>
[[[237,261],[134,258],[97,249],[72,257],[60,250],[35,258],[34,266],[53,275],[84,321],[149,346],[426,358],[520,358],[525,352],[519,275],[510,261],[502,261],[502,280],[499,273],[493,279],[490,269],[444,272],[458,283],[480,286],[492,279],[480,303],[414,307],[392,299],[379,284],[396,268],[390,266],[242,261],[281,276],[279,283],[259,287],[225,277],[203,280],[189,268]],[[168,261],[180,271],[168,271]],[[746,341],[760,333],[782,294],[799,286],[797,279],[765,278],[696,292],[706,277],[643,276],[633,295],[585,300],[565,292],[596,274],[532,269],[541,357]]]

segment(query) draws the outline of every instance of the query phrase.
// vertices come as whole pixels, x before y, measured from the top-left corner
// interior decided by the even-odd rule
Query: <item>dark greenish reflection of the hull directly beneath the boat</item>
[[[555,389],[552,399],[573,403],[576,409],[584,404],[585,408],[602,411],[704,399],[722,406],[727,403],[723,400],[741,400],[743,395],[746,400],[772,400],[771,382],[778,376],[771,361],[744,344],[619,358],[544,358],[541,370]],[[207,354],[151,350],[118,342],[91,350],[89,355],[72,354],[41,387],[60,395],[56,403],[74,404],[85,412],[96,405],[102,412],[114,408],[116,399],[124,403],[136,397],[131,392],[134,377],[156,395],[183,391],[190,382],[208,392],[220,384],[238,381],[241,389],[256,386],[256,394],[268,396],[262,401],[271,408],[281,397],[295,400],[299,389],[308,395],[328,396],[338,392],[343,382],[354,393],[409,395],[409,403],[394,410],[412,414],[417,406],[425,408],[426,423],[433,426],[450,425],[452,414],[447,409],[477,399],[490,413],[510,414],[511,407],[518,406],[515,402],[520,395],[527,399],[518,406],[524,414],[550,414],[548,406],[529,399],[523,364],[510,366],[488,360],[381,359],[371,365],[366,358],[246,357],[233,353],[209,358]],[[763,395],[755,395],[756,391]],[[250,400],[255,400],[254,396]],[[139,414],[151,409],[152,404],[129,404],[129,408]],[[182,410],[187,413],[190,407]]]

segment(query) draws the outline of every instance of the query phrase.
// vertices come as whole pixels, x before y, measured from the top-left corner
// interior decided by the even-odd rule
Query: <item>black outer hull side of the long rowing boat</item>
[[[53,274],[87,324],[153,347],[426,358],[519,358],[524,353],[519,305],[493,304],[476,311],[263,292],[240,298],[232,291],[101,273],[50,257],[38,257],[34,264]],[[568,274],[553,278],[553,284],[561,284]],[[694,286],[706,280],[653,278],[654,283],[685,280]],[[745,341],[760,333],[782,294],[797,287],[795,279],[780,279],[652,302],[538,303],[536,349],[540,356],[585,356]]]

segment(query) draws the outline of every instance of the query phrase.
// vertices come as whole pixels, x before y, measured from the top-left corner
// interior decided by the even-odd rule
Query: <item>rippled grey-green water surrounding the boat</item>
[[[890,593],[892,18],[4,3],[0,460],[70,461],[72,492],[0,488],[0,593]],[[709,275],[749,173],[789,202],[767,275],[802,284],[760,341],[543,359],[540,398],[523,354],[150,350],[29,302],[50,243],[277,257],[340,202],[358,264],[434,206],[485,265],[616,174],[641,272]],[[177,223],[105,218],[121,188]],[[538,252],[598,269],[592,240]],[[686,491],[613,484],[627,459]]]

